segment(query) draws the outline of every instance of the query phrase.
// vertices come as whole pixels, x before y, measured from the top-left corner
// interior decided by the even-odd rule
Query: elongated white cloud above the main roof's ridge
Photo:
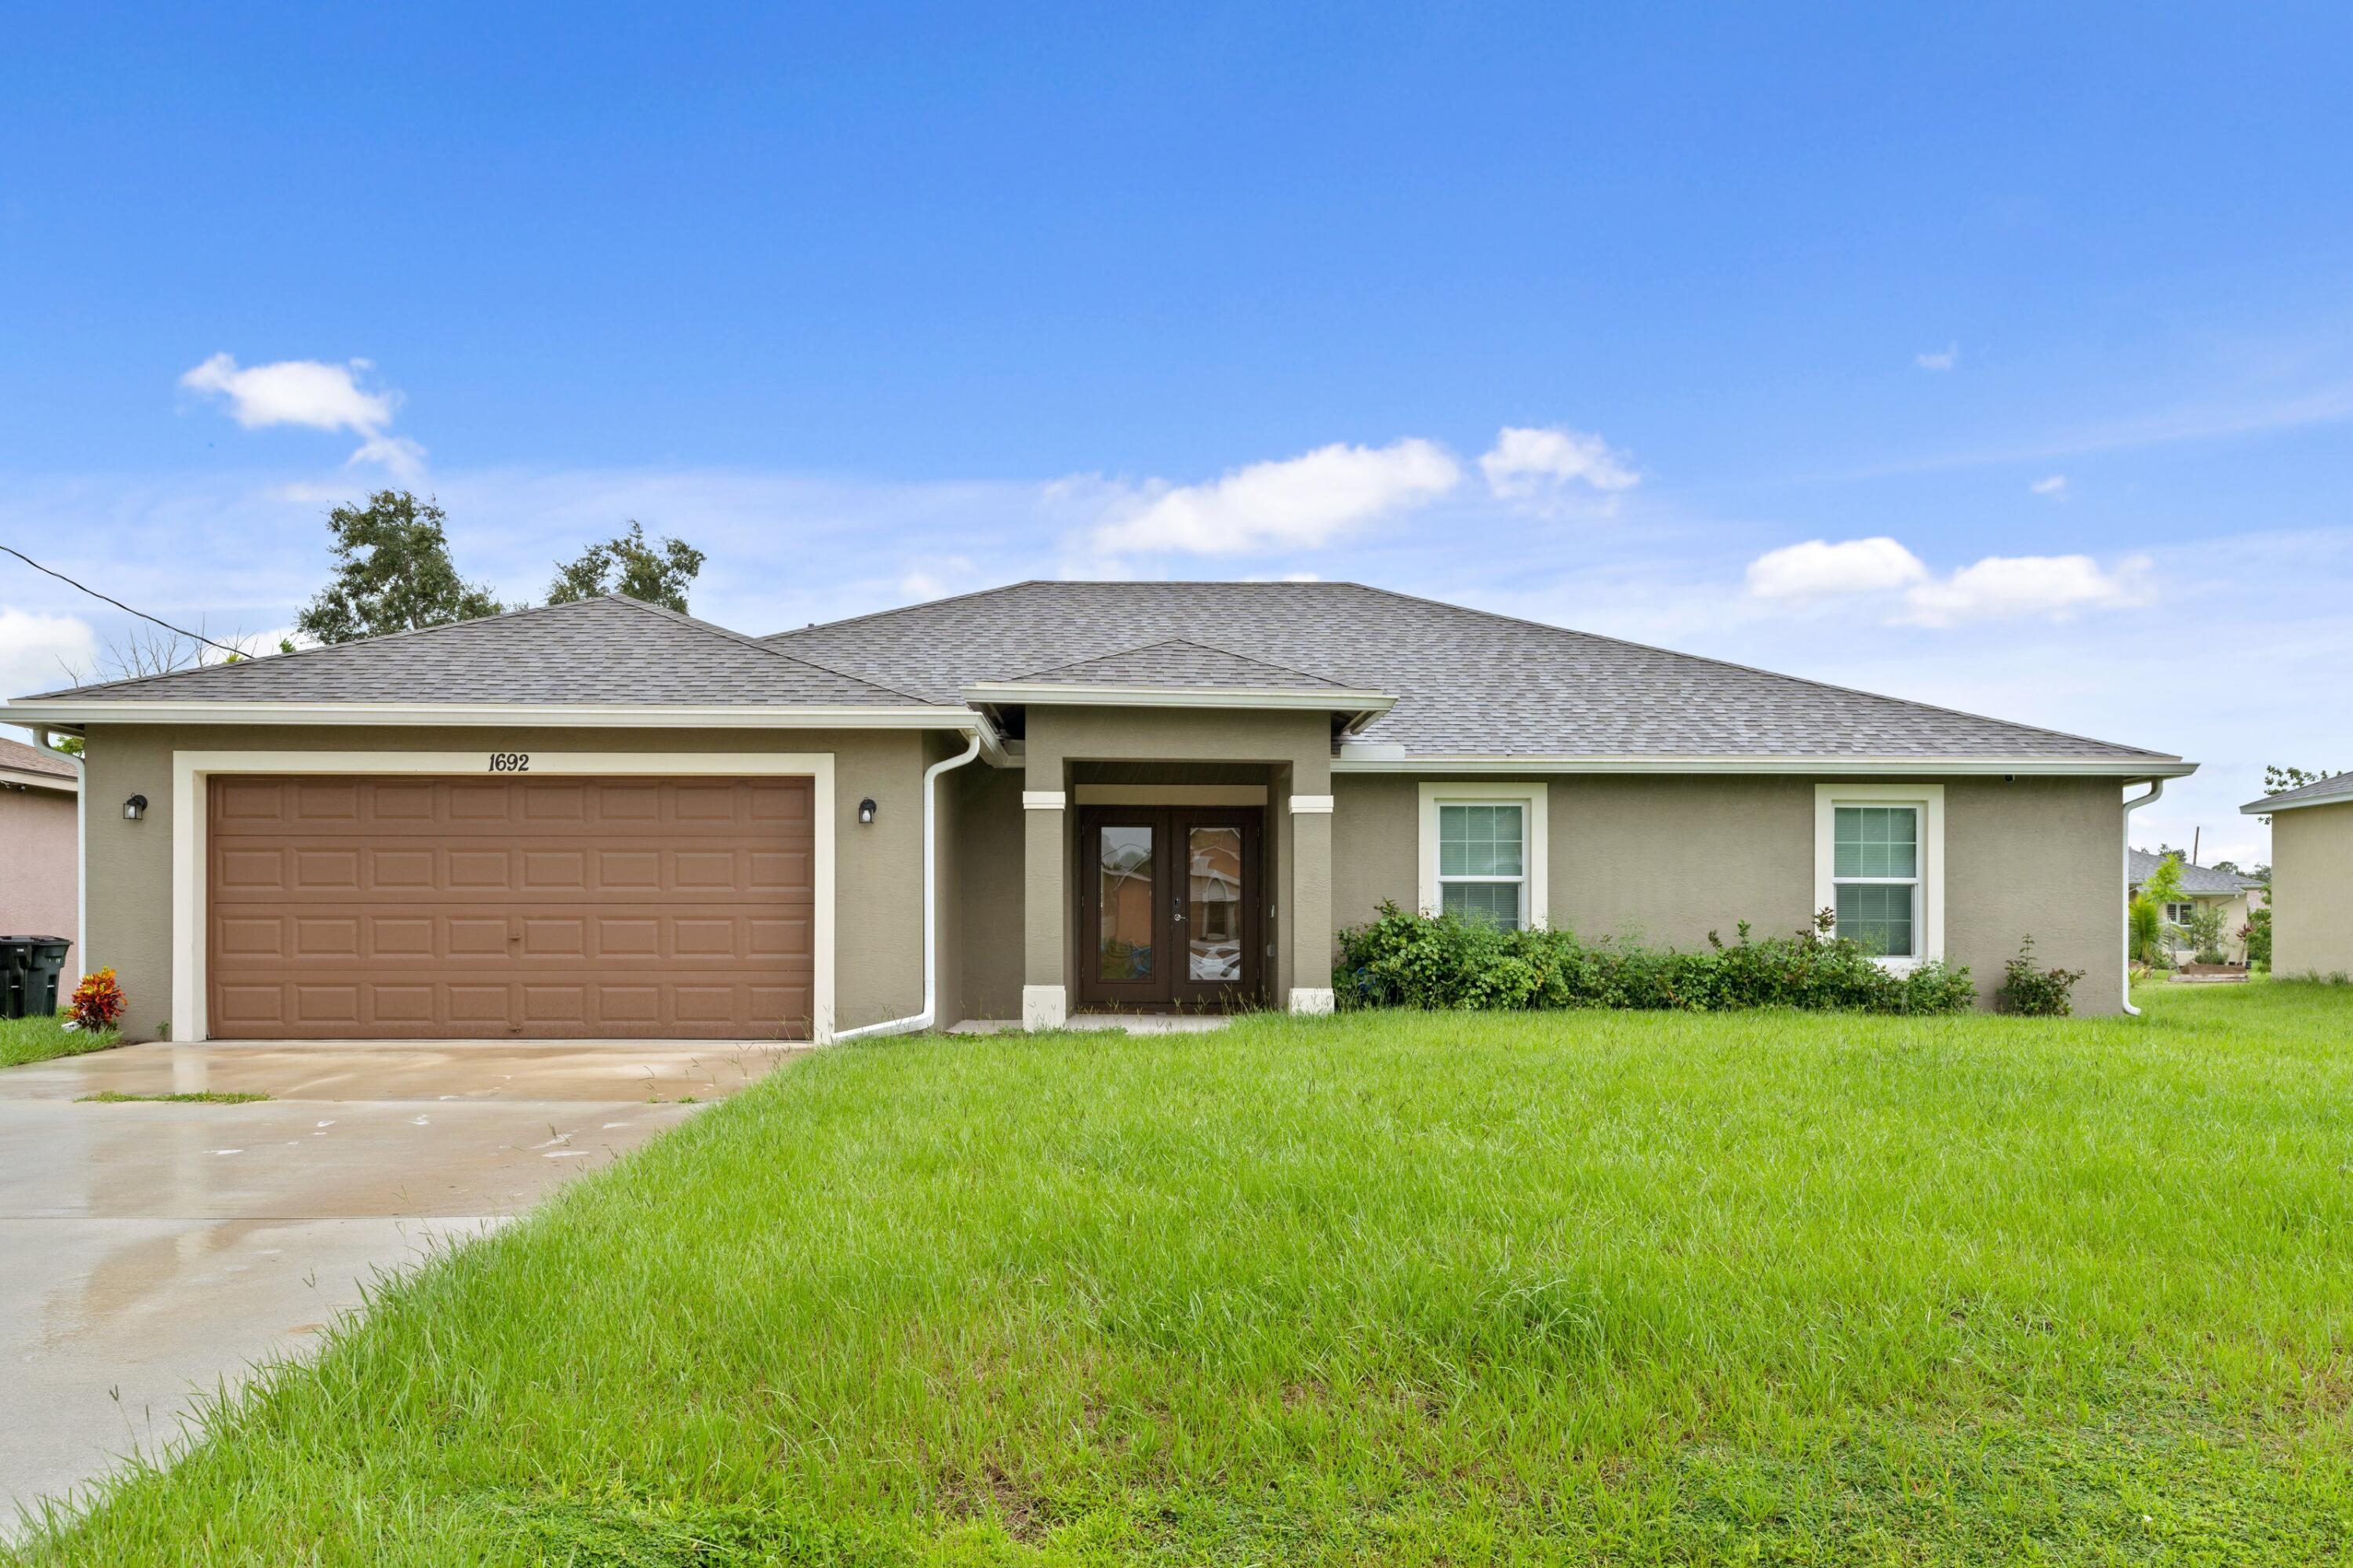
[[[1122,516],[1096,525],[1094,546],[1115,556],[1313,549],[1374,518],[1435,501],[1459,483],[1461,464],[1435,440],[1334,443],[1233,469],[1207,485],[1146,492],[1120,506]]]

